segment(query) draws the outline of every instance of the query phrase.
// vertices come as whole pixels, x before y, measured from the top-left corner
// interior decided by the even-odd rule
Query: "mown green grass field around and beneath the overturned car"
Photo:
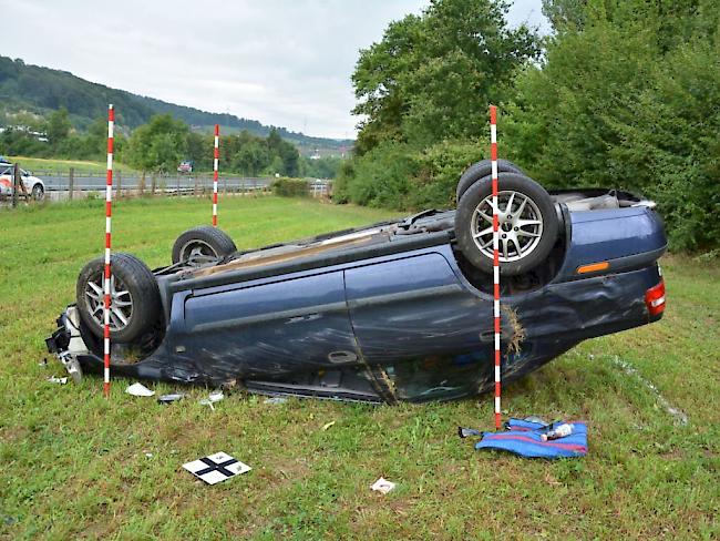
[[[207,200],[116,205],[116,249],[151,265],[209,222]],[[238,247],[359,225],[388,213],[301,200],[230,198]],[[457,425],[491,429],[492,398],[371,407],[266,404],[206,389],[171,406],[61,376],[43,338],[101,254],[101,202],[0,212],[0,535],[8,539],[524,539],[720,535],[720,268],[666,257],[658,324],[589,340],[506,389],[507,415],[583,419],[589,453],[562,461],[477,452]],[[648,386],[651,382],[656,391]],[[152,385],[151,385],[152,386]],[[168,391],[166,385],[152,386]],[[659,394],[659,395],[658,395]],[[681,409],[681,425],[667,406]],[[322,427],[335,421],[327,430]],[[182,463],[224,450],[254,469],[207,487]],[[380,476],[398,483],[370,491]]]

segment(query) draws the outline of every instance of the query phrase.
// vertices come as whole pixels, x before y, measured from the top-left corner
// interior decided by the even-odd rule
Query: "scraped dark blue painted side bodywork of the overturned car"
[[[662,249],[657,215],[640,207],[570,213],[569,229],[552,283],[502,299],[505,381],[583,339],[650,321],[644,296],[660,279],[655,262],[582,279],[575,270]],[[168,297],[160,347],[137,364],[119,364],[114,374],[206,385],[240,380],[261,391],[271,382],[291,394],[391,402],[454,399],[492,387],[492,297],[470,284],[448,242],[248,282],[193,284],[175,286]],[[102,366],[94,355],[80,360],[85,369]],[[312,385],[304,379],[309,374]],[[323,378],[332,374],[335,387],[328,387]]]

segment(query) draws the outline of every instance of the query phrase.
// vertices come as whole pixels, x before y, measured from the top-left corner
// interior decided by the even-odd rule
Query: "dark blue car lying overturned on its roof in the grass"
[[[113,376],[389,404],[492,389],[490,172],[462,175],[456,210],[243,252],[196,227],[154,270],[114,255]],[[498,177],[504,381],[662,317],[652,202],[548,193],[503,161]],[[76,377],[103,368],[102,274],[102,258],[85,265],[47,340]]]

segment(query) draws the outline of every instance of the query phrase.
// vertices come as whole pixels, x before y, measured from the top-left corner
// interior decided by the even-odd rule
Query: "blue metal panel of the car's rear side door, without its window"
[[[440,253],[348,269],[346,290],[369,363],[474,350],[492,330],[492,302],[463,287]]]

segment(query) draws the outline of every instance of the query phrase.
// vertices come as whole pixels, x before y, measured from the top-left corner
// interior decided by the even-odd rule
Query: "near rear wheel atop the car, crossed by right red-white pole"
[[[498,183],[500,272],[516,276],[545,261],[559,224],[553,198],[535,181],[517,173],[500,173]],[[492,214],[492,177],[485,176],[465,191],[455,212],[457,246],[485,273],[493,272]]]

